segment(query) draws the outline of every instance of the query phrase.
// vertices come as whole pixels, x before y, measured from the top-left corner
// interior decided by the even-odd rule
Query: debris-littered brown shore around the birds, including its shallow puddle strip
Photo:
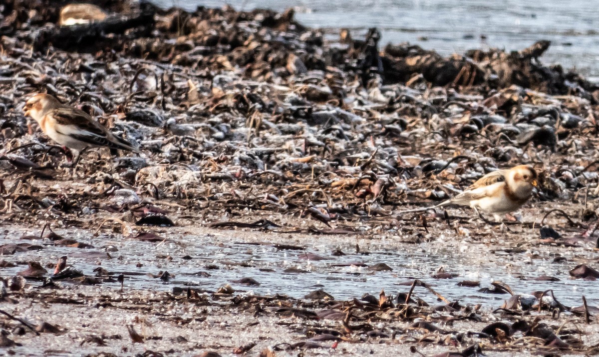
[[[597,353],[599,87],[549,42],[443,57],[293,11],[96,3],[66,27],[63,2],[0,8],[2,353]],[[141,154],[70,167],[23,114],[38,92]],[[540,173],[519,222],[397,215],[517,164]]]

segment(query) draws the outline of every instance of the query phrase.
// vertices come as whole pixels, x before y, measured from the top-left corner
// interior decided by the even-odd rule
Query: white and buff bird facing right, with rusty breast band
[[[495,219],[500,220],[502,215],[519,209],[530,199],[533,188],[537,187],[537,178],[537,172],[528,165],[519,165],[509,170],[497,170],[486,174],[458,196],[437,206],[398,213],[422,212],[448,205],[460,205],[470,206],[481,218],[479,210],[491,213]]]

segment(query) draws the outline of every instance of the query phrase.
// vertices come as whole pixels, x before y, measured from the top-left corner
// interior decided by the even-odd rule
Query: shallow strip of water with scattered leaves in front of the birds
[[[30,232],[31,233],[31,232]],[[2,268],[1,276],[7,277],[26,268],[27,261],[39,261],[43,266],[53,264],[62,255],[68,256],[68,264],[93,276],[93,269],[103,267],[108,271],[126,276],[127,289],[155,289],[171,291],[174,287],[205,289],[216,291],[220,286],[230,283],[237,292],[253,291],[255,294],[286,294],[302,298],[308,292],[323,289],[338,300],[361,297],[365,293],[377,295],[380,289],[386,294],[396,295],[407,292],[413,279],[420,279],[450,301],[479,304],[495,309],[500,307],[509,295],[495,295],[479,292],[479,288],[458,286],[462,280],[479,280],[480,287],[490,287],[493,280],[501,280],[512,286],[516,294],[530,294],[533,291],[553,289],[555,297],[566,306],[580,306],[581,295],[586,295],[591,306],[599,305],[599,286],[596,282],[574,280],[568,276],[568,270],[575,264],[570,258],[576,254],[580,258],[592,252],[583,248],[560,249],[560,254],[568,259],[566,264],[552,263],[554,253],[534,252],[539,258],[531,260],[531,252],[509,253],[488,252],[484,244],[459,242],[457,245],[444,244],[453,237],[440,236],[435,242],[409,244],[397,243],[393,236],[381,240],[359,240],[361,251],[368,254],[356,254],[355,237],[343,239],[338,246],[326,238],[306,241],[305,251],[279,250],[264,242],[282,243],[275,233],[264,234],[264,242],[256,245],[255,239],[246,239],[243,231],[217,231],[215,234],[168,234],[164,243],[140,242],[134,239],[98,236],[92,237],[84,231],[57,231],[65,237],[94,245],[95,249],[66,248],[55,246],[50,241],[22,240],[23,230],[13,230],[4,235],[2,244],[29,242],[40,244],[40,251],[17,252],[1,257],[6,261],[19,263],[17,267]],[[111,258],[104,253],[102,246],[112,245],[118,249],[110,252]],[[448,247],[448,248],[447,248]],[[341,249],[347,255],[335,257],[334,249]],[[481,250],[485,249],[484,252]],[[317,254],[323,260],[306,260],[306,253]],[[184,259],[189,255],[190,259]],[[170,256],[172,260],[165,257]],[[590,255],[589,255],[589,258]],[[370,271],[356,263],[372,266],[385,263],[393,271]],[[141,264],[141,267],[138,267]],[[246,266],[240,266],[244,264]],[[208,269],[207,266],[216,266]],[[443,266],[448,273],[457,273],[453,279],[434,279],[431,277],[438,267]],[[307,273],[285,273],[287,268],[298,268]],[[53,268],[47,268],[50,272]],[[170,282],[149,276],[159,271],[173,274]],[[210,276],[202,276],[208,273]],[[541,275],[555,276],[557,282],[531,280]],[[261,284],[245,286],[235,280],[251,277]],[[29,282],[39,285],[40,282]],[[408,285],[406,285],[406,283]],[[61,282],[68,285],[68,282]],[[118,283],[104,283],[102,286],[119,287]],[[424,288],[416,288],[415,296],[428,303],[436,298]]]

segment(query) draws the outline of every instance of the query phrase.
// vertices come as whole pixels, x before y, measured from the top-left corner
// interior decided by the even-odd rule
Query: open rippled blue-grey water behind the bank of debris
[[[540,39],[552,42],[544,63],[576,68],[599,80],[599,18],[592,1],[503,0],[152,0],[173,5],[238,10],[295,7],[296,18],[314,28],[354,29],[356,34],[376,26],[382,43],[408,41],[441,54],[464,53],[470,48],[499,47],[521,50]],[[482,38],[485,36],[485,38]]]

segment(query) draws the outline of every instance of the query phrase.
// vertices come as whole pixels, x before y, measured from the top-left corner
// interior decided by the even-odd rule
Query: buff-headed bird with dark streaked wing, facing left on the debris
[[[108,147],[139,152],[114,135],[81,109],[63,105],[49,94],[35,94],[25,104],[25,115],[34,118],[53,141],[81,151],[90,147]]]

